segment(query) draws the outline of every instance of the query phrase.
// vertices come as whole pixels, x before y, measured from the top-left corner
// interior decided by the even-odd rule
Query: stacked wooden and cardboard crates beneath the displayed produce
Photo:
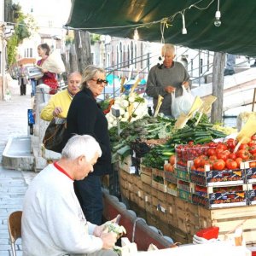
[[[215,225],[219,227],[219,238],[232,235],[233,229],[241,225],[247,244],[256,244],[256,168],[238,171],[193,172],[193,161],[186,166],[177,165],[174,172],[165,172],[148,166],[140,166],[140,176],[119,168],[119,183],[122,195],[129,200],[131,209],[145,218],[148,225],[160,229],[174,241],[188,243],[195,232]],[[125,160],[132,165],[131,160]],[[124,166],[124,164],[123,164]],[[223,176],[221,176],[222,174]],[[177,194],[168,192],[170,180],[177,179]],[[163,181],[163,182],[162,182]],[[228,199],[228,194],[218,195],[214,189],[224,186],[241,188]],[[207,189],[207,195],[197,193],[196,186]],[[241,194],[239,194],[241,193]],[[212,201],[212,196],[222,196],[222,201]],[[227,195],[227,197],[224,197]],[[245,199],[245,200],[244,200]],[[218,203],[217,203],[218,202]],[[235,207],[236,206],[236,207]]]

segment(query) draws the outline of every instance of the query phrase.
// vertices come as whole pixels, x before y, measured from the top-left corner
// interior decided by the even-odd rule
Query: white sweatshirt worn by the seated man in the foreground
[[[21,221],[23,256],[93,253],[102,239],[84,218],[73,180],[49,165],[26,191]]]

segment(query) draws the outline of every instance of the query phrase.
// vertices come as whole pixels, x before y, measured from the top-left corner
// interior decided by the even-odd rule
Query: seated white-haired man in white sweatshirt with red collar
[[[61,160],[46,166],[26,191],[21,219],[24,256],[73,255],[113,256],[115,233],[105,233],[104,224],[90,224],[84,218],[73,190],[98,157],[99,144],[89,135],[71,137]]]

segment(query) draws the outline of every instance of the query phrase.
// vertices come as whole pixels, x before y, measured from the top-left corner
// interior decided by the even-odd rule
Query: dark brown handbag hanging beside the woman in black
[[[44,134],[44,148],[61,153],[66,131],[66,119],[55,118],[49,122]]]

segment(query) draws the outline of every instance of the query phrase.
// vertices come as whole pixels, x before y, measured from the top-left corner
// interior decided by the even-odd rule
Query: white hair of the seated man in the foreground
[[[84,155],[87,161],[92,160],[95,154],[102,156],[102,149],[94,137],[90,135],[74,135],[62,149],[62,157],[68,160],[75,160]]]

